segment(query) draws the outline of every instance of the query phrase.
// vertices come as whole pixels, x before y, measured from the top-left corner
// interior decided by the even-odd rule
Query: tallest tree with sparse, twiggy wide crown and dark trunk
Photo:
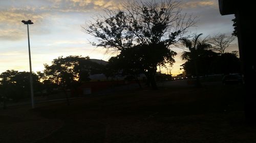
[[[156,88],[153,78],[157,65],[173,64],[175,52],[170,50],[170,45],[187,38],[188,28],[195,24],[194,18],[181,14],[179,6],[179,2],[171,0],[161,3],[128,2],[117,11],[106,10],[106,16],[99,15],[94,22],[82,29],[97,39],[96,43],[92,43],[95,46],[119,52],[130,48],[141,49],[135,50],[143,52],[136,57],[147,57],[144,58],[148,60],[147,66],[143,70],[147,71],[148,80]],[[165,53],[156,51],[168,51],[172,55],[165,56]],[[161,61],[154,58],[157,54],[161,56]]]

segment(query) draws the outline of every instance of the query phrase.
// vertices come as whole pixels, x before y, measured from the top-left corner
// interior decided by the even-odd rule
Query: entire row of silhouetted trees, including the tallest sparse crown
[[[105,10],[105,15],[98,15],[82,30],[96,39],[92,45],[118,54],[106,66],[90,61],[88,56],[60,56],[51,65],[45,64],[44,71],[33,73],[35,89],[57,86],[65,91],[90,81],[91,74],[104,73],[111,77],[120,72],[134,77],[136,81],[143,73],[147,85],[157,89],[157,66],[173,65],[177,53],[171,47],[180,44],[186,49],[181,58],[185,60],[183,67],[187,74],[239,72],[237,53],[225,53],[234,37],[219,34],[200,40],[202,34],[199,34],[193,38],[188,29],[195,26],[196,19],[182,13],[180,5],[172,0],[160,3],[129,1],[120,9]],[[27,97],[28,74],[14,70],[2,73],[1,96]],[[11,90],[12,87],[18,89],[17,93]]]

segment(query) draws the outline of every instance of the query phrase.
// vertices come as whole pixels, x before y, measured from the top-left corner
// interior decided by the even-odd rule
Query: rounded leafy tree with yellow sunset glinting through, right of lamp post
[[[102,73],[103,65],[90,61],[87,56],[63,56],[52,61],[52,65],[45,64],[44,79],[48,79],[59,85],[70,87],[75,82],[90,81],[90,74]]]

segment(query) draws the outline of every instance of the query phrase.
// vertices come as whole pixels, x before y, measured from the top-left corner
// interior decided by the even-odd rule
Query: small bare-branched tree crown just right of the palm
[[[223,54],[225,53],[226,48],[230,46],[231,42],[233,42],[235,38],[236,37],[234,36],[226,36],[225,34],[218,34],[212,37],[209,40],[209,43],[214,45],[212,50],[218,51],[221,54]]]

